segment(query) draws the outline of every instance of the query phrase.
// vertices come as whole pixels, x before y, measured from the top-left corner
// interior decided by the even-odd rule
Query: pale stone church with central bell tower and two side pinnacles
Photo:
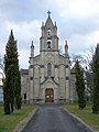
[[[51,12],[42,22],[40,54],[34,55],[31,45],[29,69],[21,69],[21,95],[23,101],[30,103],[66,103],[76,96],[75,70],[70,69],[68,44],[65,41],[64,55],[59,53],[59,38],[56,22],[53,23]]]

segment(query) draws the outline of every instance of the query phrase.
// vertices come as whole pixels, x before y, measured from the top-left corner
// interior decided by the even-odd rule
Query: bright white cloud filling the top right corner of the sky
[[[92,18],[99,14],[99,0],[56,0],[62,18]]]

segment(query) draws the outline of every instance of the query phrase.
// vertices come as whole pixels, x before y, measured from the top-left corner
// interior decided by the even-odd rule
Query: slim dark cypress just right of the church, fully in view
[[[78,105],[80,109],[84,109],[86,107],[84,70],[80,67],[78,61],[76,61],[75,70],[76,70],[76,90],[78,96]]]

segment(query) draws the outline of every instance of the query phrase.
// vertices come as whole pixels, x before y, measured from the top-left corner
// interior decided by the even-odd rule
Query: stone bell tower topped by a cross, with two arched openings
[[[51,19],[51,12],[47,12],[48,16],[46,22],[42,22],[41,38],[40,38],[40,52],[58,52],[58,36],[56,22],[53,24]]]

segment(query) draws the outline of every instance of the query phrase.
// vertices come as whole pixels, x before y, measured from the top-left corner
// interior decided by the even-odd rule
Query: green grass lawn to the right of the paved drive
[[[64,106],[65,109],[67,109],[72,113],[76,114],[84,122],[86,122],[88,125],[90,125],[94,130],[99,131],[99,114],[92,114],[91,107],[92,107],[92,105],[89,102],[87,103],[87,106],[84,110],[80,110],[78,108],[77,102]]]

